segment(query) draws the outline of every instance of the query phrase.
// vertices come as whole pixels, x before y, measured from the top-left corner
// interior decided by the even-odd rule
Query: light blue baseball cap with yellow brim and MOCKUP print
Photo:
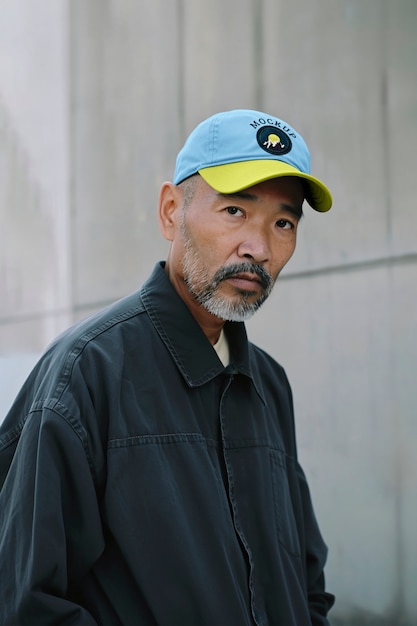
[[[178,185],[197,172],[224,194],[271,178],[297,176],[305,181],[313,209],[324,213],[332,206],[326,185],[310,174],[310,152],[301,135],[260,111],[223,111],[201,122],[178,153],[173,182]]]

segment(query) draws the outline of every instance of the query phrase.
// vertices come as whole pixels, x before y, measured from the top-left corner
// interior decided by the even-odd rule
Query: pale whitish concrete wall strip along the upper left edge
[[[0,346],[40,350],[71,322],[70,92],[63,0],[2,3]]]

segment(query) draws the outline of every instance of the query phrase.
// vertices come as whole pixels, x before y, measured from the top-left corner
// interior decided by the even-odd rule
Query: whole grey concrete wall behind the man
[[[248,324],[285,367],[333,623],[417,622],[417,3],[3,0],[0,408],[46,344],[136,289],[202,118],[292,123],[334,195]]]

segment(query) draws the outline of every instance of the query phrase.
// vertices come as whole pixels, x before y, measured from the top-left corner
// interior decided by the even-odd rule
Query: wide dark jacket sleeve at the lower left
[[[95,624],[74,598],[103,547],[80,433],[54,410],[32,412],[0,492],[0,623]]]

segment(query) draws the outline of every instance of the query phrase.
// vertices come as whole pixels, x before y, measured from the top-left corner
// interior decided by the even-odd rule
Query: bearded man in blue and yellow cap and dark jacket
[[[332,202],[276,117],[190,135],[160,192],[166,263],[58,338],[2,426],[2,624],[328,624],[290,387],[242,323],[304,199]]]

